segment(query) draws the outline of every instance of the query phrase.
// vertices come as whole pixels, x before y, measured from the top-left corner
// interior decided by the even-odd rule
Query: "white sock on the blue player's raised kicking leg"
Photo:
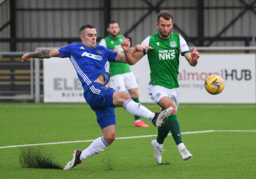
[[[146,107],[144,107],[140,103],[134,102],[132,99],[124,102],[123,108],[126,109],[132,115],[144,117],[149,121],[151,121],[155,116],[155,114],[149,111]]]

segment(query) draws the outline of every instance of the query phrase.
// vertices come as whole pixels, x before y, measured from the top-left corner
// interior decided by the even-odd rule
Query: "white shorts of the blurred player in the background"
[[[138,88],[137,80],[133,72],[123,73],[110,77],[112,88],[122,92]]]

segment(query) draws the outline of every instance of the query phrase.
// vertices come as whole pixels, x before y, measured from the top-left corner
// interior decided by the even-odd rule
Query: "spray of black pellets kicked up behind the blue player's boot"
[[[50,154],[38,147],[22,147],[20,149],[20,165],[24,168],[54,168],[63,169],[54,162]]]

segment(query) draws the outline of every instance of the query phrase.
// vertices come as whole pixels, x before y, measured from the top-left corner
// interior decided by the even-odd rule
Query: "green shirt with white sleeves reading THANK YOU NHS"
[[[168,89],[178,88],[179,52],[181,55],[190,52],[184,38],[171,32],[170,38],[163,39],[158,32],[148,36],[142,45],[154,48],[147,51],[150,68],[149,84]]]

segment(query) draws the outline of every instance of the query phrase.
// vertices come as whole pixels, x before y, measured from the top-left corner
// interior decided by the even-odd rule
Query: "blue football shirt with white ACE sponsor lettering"
[[[62,57],[69,57],[73,64],[83,89],[100,75],[104,75],[104,85],[108,83],[109,74],[106,72],[107,62],[115,62],[117,52],[103,46],[93,49],[82,43],[71,43],[59,48]]]

